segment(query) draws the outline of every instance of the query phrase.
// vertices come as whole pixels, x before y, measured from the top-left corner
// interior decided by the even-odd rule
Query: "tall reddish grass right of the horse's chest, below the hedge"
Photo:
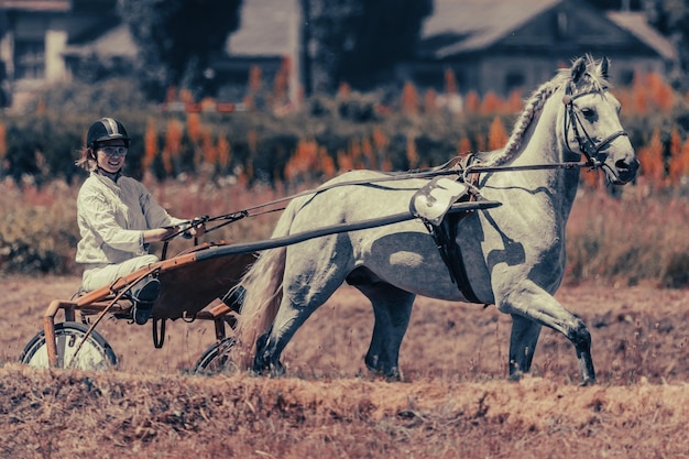
[[[600,189],[575,201],[567,227],[567,282],[689,286],[689,205],[675,193],[642,192],[627,185],[620,198]]]

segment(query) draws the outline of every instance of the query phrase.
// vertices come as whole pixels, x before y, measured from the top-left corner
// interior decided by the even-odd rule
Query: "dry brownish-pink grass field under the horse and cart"
[[[368,373],[370,305],[342,287],[284,352],[287,375],[193,375],[208,324],[106,320],[118,370],[17,362],[76,277],[6,277],[0,310],[1,458],[687,458],[689,292],[562,287],[589,325],[599,383],[580,387],[568,341],[544,330],[533,375],[506,380],[510,320],[419,298],[403,382]]]

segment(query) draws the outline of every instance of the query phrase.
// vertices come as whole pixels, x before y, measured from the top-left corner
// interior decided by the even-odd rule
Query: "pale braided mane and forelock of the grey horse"
[[[587,55],[586,59],[587,73],[582,78],[584,84],[578,88],[577,92],[608,89],[609,83],[605,75],[601,74],[599,67],[600,61],[597,62],[591,55]],[[540,112],[548,98],[558,90],[564,90],[567,87],[572,90],[573,95],[575,88],[573,84],[571,84],[570,68],[560,68],[553,79],[540,85],[524,103],[524,110],[522,110],[522,113],[517,118],[505,147],[489,156],[486,159],[486,165],[495,166],[512,160],[522,146],[524,133]]]

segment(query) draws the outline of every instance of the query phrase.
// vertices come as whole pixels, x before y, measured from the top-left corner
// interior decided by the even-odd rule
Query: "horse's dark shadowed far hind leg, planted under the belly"
[[[371,299],[375,317],[365,364],[390,380],[400,380],[400,347],[409,325],[416,295],[382,282],[357,285],[357,288]]]

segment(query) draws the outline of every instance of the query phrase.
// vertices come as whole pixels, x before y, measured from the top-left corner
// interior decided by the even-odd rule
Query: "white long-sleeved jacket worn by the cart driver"
[[[76,262],[95,267],[144,255],[149,253],[144,230],[185,221],[171,217],[134,178],[120,176],[116,183],[91,173],[77,197],[81,240]]]

